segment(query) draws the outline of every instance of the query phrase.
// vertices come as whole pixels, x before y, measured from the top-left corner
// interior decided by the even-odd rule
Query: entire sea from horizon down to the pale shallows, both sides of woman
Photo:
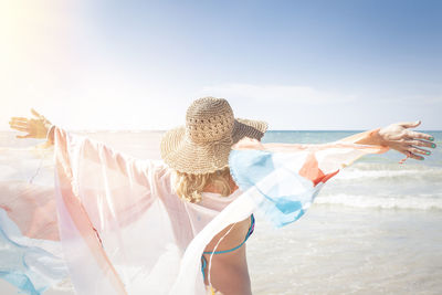
[[[365,156],[329,180],[295,223],[276,230],[257,215],[246,244],[253,294],[442,294],[442,131],[419,131],[438,145],[424,160],[401,165],[394,150]],[[155,159],[164,134],[74,133]],[[323,144],[356,133],[271,130],[263,141]],[[0,131],[0,147],[41,143],[15,135]],[[7,283],[0,291],[17,294]]]

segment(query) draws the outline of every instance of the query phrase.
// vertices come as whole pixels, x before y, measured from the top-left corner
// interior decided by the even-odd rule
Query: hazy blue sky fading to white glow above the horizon
[[[0,129],[167,129],[207,95],[271,129],[442,129],[442,1],[0,0]]]

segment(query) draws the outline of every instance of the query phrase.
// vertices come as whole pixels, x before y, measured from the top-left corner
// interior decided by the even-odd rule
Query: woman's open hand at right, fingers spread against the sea
[[[431,151],[422,147],[435,148],[435,144],[431,143],[434,140],[431,135],[408,129],[415,128],[419,125],[421,125],[421,122],[417,120],[391,124],[390,126],[381,128],[379,130],[381,145],[402,152],[407,158],[423,160],[424,158],[420,155],[430,156]]]

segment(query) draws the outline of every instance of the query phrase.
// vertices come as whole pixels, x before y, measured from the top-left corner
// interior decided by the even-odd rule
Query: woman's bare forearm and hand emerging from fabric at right
[[[391,124],[383,128],[369,130],[346,137],[340,141],[351,141],[360,145],[385,146],[398,150],[408,158],[423,160],[424,156],[431,155],[427,148],[435,148],[434,137],[429,134],[417,133],[410,128],[415,128],[421,124],[418,122],[406,122]]]

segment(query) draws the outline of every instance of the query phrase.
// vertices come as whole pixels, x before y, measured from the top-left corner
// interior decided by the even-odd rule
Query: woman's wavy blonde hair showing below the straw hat
[[[224,197],[232,193],[229,167],[204,175],[191,175],[179,171],[175,171],[175,190],[177,194],[191,203],[201,201],[201,193],[204,189],[214,189]]]

